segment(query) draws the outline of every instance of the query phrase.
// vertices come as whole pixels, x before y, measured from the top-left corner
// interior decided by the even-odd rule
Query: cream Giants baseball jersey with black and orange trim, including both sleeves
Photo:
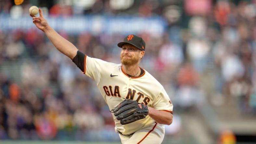
[[[125,99],[132,99],[156,110],[173,112],[173,104],[163,86],[146,70],[143,70],[143,74],[139,77],[129,78],[123,72],[122,64],[109,63],[85,55],[83,73],[96,82],[110,110]],[[115,122],[115,130],[122,134],[134,133],[154,123],[154,120],[147,115],[145,119],[121,125],[114,114],[111,114]]]

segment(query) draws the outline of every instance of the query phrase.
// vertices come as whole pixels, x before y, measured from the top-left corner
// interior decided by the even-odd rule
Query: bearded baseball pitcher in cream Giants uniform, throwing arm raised
[[[163,86],[145,69],[139,67],[146,44],[141,37],[128,35],[118,46],[122,48],[121,64],[89,57],[53,30],[39,9],[32,16],[53,45],[68,56],[85,74],[92,78],[109,106],[115,131],[123,144],[160,144],[164,125],[173,121],[173,104]]]

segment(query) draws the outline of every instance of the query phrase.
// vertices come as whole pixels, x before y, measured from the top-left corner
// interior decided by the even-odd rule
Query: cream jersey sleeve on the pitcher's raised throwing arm
[[[98,85],[101,78],[102,68],[106,62],[97,58],[91,58],[87,55],[85,56],[84,62],[83,74],[92,78]]]

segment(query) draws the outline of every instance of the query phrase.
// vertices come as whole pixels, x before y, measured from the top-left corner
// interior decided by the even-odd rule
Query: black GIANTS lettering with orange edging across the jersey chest
[[[112,86],[109,86],[109,87],[104,86],[103,89],[104,89],[104,91],[105,91],[107,96],[111,95],[111,96],[115,96],[115,97],[117,97],[117,96],[121,97],[120,92],[119,92],[119,86],[115,86],[114,90],[113,90]],[[136,93],[136,90],[132,90],[130,88],[128,89],[128,93],[127,93],[125,99],[132,99],[132,100],[134,100],[135,94],[137,94],[137,99],[136,99],[137,102],[139,102],[141,98],[144,98],[141,103],[147,105],[148,102],[150,101],[149,97],[144,96],[143,93],[141,93],[141,92],[137,92]]]

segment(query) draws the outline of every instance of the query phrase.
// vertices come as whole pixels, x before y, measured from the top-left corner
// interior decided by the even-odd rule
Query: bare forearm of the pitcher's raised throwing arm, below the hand
[[[71,42],[60,36],[54,29],[48,26],[44,32],[62,54],[67,55],[71,60],[76,56],[78,49]]]

